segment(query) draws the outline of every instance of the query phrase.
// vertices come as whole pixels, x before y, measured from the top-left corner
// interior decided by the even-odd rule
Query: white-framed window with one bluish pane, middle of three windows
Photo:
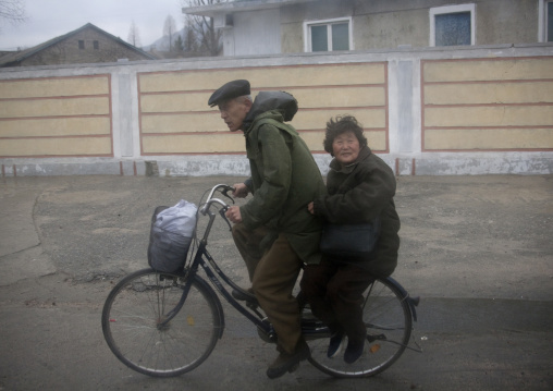
[[[475,45],[475,4],[430,9],[430,46]]]

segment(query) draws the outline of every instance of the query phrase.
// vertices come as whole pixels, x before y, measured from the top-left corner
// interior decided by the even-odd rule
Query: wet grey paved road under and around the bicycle
[[[394,277],[422,296],[413,345],[423,353],[378,377],[336,380],[303,364],[269,380],[274,346],[228,307],[223,339],[193,372],[127,369],[100,313],[116,279],[146,266],[153,208],[238,180],[0,179],[0,390],[553,389],[553,176],[400,179]],[[245,283],[224,225],[210,248]]]

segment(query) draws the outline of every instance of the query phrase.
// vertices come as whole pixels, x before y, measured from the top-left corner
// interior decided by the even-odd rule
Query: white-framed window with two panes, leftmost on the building
[[[305,51],[352,50],[352,19],[304,23]]]

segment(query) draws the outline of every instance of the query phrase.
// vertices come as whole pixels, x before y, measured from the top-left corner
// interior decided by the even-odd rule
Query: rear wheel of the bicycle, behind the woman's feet
[[[367,342],[361,357],[346,364],[343,353],[327,357],[330,334],[312,339],[310,363],[334,377],[368,377],[389,368],[405,351],[410,338],[413,318],[407,297],[390,280],[378,279],[364,293],[362,319],[367,325]]]

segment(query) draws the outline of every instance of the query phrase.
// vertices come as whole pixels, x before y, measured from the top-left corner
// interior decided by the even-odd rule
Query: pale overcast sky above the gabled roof
[[[172,15],[176,29],[183,28],[180,0],[23,0],[27,21],[0,22],[0,50],[16,50],[42,44],[91,23],[127,40],[131,24],[138,27],[143,46],[163,35]]]

